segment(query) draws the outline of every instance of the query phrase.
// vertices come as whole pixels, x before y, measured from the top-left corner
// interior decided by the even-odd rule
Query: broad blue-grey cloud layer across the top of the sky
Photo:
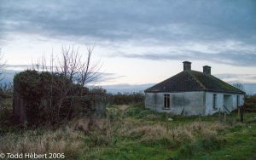
[[[1,1],[1,32],[160,41],[255,43],[255,1]],[[254,36],[253,36],[254,35]]]

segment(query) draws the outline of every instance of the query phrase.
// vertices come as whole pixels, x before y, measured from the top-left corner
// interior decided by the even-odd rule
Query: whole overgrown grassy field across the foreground
[[[57,129],[3,126],[0,152],[64,153],[66,159],[254,159],[256,112],[245,112],[244,121],[239,123],[237,112],[180,117],[154,113],[142,103],[108,106],[106,118],[77,118]]]

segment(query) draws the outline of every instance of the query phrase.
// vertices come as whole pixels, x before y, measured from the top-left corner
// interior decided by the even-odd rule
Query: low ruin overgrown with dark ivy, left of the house
[[[63,98],[61,85],[63,77],[49,72],[27,70],[15,75],[13,109],[16,121],[23,125],[55,124],[73,117],[105,115],[104,93],[92,93],[65,79],[65,87],[69,90]],[[79,92],[81,89],[83,92]]]

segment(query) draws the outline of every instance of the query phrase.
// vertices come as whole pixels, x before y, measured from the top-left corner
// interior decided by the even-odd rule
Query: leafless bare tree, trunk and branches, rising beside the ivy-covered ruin
[[[79,90],[74,91],[74,94],[82,96],[84,94],[84,87],[91,82],[96,81],[100,76],[99,70],[101,69],[100,60],[96,63],[91,62],[94,46],[87,47],[85,53],[80,54],[79,48],[65,47],[61,49],[61,56],[51,54],[50,64],[47,66],[45,56],[33,66],[37,71],[49,71],[52,75],[59,74],[61,82],[55,83],[52,79],[50,84],[50,98],[49,107],[52,108],[52,93],[54,89],[58,89],[58,102],[57,102],[57,117],[60,116],[61,106],[68,94],[73,91],[73,86],[70,83],[79,84]],[[53,78],[53,77],[52,77]],[[71,107],[71,106],[70,106]]]

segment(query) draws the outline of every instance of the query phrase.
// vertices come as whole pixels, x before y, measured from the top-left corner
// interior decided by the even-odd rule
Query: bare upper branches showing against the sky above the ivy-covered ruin
[[[96,63],[91,61],[93,51],[94,45],[87,46],[85,53],[82,54],[79,53],[79,48],[63,46],[61,56],[54,58],[54,54],[51,54],[49,66],[43,55],[36,63],[32,63],[32,69],[59,73],[73,83],[85,87],[88,83],[95,82],[101,75],[99,72],[102,67],[101,60]]]

